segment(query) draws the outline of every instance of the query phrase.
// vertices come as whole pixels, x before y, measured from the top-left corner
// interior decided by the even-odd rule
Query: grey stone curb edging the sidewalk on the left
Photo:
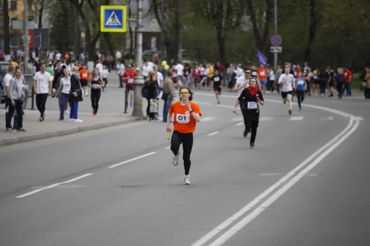
[[[86,131],[90,131],[90,130],[97,130],[97,129],[107,128],[107,127],[111,127],[111,126],[119,126],[119,125],[122,125],[122,124],[137,122],[137,121],[140,121],[142,119],[144,119],[144,118],[142,118],[142,117],[130,117],[127,120],[118,120],[118,121],[114,121],[114,122],[100,123],[100,124],[95,124],[95,125],[90,125],[90,126],[74,127],[72,129],[68,129],[68,130],[58,130],[58,131],[54,131],[54,132],[36,133],[36,134],[32,134],[30,136],[14,137],[14,138],[11,138],[11,139],[1,139],[0,140],[0,147],[1,146],[12,145],[12,144],[17,144],[17,143],[31,142],[31,141],[34,141],[34,140],[48,139],[48,138],[51,138],[51,137],[65,136],[65,135],[70,135],[70,134],[78,133],[78,132],[86,132]]]

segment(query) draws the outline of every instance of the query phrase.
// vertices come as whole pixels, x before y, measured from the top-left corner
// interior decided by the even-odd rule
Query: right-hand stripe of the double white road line
[[[353,120],[350,120],[351,122]],[[336,143],[334,143],[329,149],[324,151],[320,154],[317,159],[315,159],[311,164],[309,164],[305,169],[303,169],[297,176],[293,177],[286,185],[284,185],[281,189],[279,189],[275,194],[273,194],[269,199],[267,199],[264,203],[262,203],[257,209],[255,209],[252,213],[242,219],[239,223],[233,226],[230,230],[225,232],[222,236],[220,236],[217,240],[211,243],[209,246],[219,246],[226,242],[230,237],[235,235],[235,233],[239,232],[244,226],[248,225],[253,219],[255,219],[260,213],[262,213],[265,209],[267,209],[273,202],[275,202],[280,196],[282,196],[287,190],[289,190],[295,183],[297,183],[302,177],[305,176],[307,172],[312,170],[320,161],[322,161],[330,152],[336,149],[339,144],[343,143],[356,129],[359,127],[360,121],[356,120],[356,123],[352,127],[352,129],[347,132],[341,139],[339,139]]]

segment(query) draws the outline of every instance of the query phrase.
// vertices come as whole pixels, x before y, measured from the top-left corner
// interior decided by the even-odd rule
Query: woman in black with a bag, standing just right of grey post
[[[157,105],[157,97],[158,97],[158,83],[157,83],[157,72],[151,71],[148,74],[146,80],[146,86],[148,89],[148,107],[147,107],[147,115],[149,116],[149,121],[158,120],[155,117],[155,114],[158,113],[158,105]]]

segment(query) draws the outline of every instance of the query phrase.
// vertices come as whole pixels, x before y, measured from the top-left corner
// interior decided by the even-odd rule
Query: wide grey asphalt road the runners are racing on
[[[268,94],[249,149],[236,94],[195,93],[189,186],[160,121],[1,147],[0,245],[370,245],[369,102]]]

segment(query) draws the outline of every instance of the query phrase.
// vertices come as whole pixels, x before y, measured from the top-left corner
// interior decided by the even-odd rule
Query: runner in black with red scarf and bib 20
[[[234,106],[234,112],[236,112],[236,107],[238,106],[239,102],[244,99],[245,106],[243,110],[243,118],[245,124],[245,130],[243,136],[246,137],[248,135],[249,129],[252,129],[252,135],[250,136],[250,148],[254,149],[255,147],[255,139],[257,134],[257,127],[259,122],[259,104],[265,104],[262,96],[262,92],[258,89],[257,78],[251,78],[249,80],[249,87],[244,89],[242,94],[240,94],[239,98],[236,100]]]

